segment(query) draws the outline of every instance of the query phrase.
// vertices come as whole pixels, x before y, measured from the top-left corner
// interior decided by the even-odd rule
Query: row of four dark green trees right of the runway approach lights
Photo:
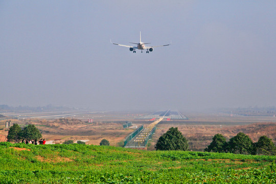
[[[156,150],[183,150],[189,148],[188,140],[176,128],[171,127],[166,133],[159,137]],[[276,147],[267,136],[261,136],[257,143],[253,143],[250,137],[239,132],[226,142],[222,134],[216,134],[211,144],[205,148],[206,152],[235,153],[235,154],[262,154],[276,155]]]

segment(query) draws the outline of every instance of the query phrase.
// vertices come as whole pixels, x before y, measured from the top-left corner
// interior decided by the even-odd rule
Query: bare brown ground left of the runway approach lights
[[[12,120],[13,121],[13,120]],[[66,140],[89,140],[86,144],[99,145],[101,140],[106,139],[111,146],[122,145],[125,137],[130,134],[134,129],[124,129],[121,121],[118,123],[112,122],[93,123],[88,124],[78,119],[57,119],[57,120],[43,120],[43,119],[28,119],[28,120],[15,120],[13,123],[19,126],[25,126],[28,123],[34,124],[42,133],[43,139],[46,141],[54,141],[61,139],[61,143]],[[0,121],[0,128],[5,126],[5,121]],[[135,123],[140,126],[141,122]],[[8,128],[0,130],[3,137],[8,135]]]

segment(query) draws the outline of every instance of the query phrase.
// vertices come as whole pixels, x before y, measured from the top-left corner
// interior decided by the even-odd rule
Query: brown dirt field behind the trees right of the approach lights
[[[253,142],[257,142],[262,135],[268,136],[276,142],[276,123],[254,123],[249,125],[183,125],[183,124],[159,124],[151,140],[148,150],[154,150],[158,138],[170,127],[178,127],[189,141],[189,150],[203,151],[215,134],[221,133],[228,141],[239,132],[247,134]]]

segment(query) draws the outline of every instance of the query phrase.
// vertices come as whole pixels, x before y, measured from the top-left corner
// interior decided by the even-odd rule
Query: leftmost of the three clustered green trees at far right
[[[205,148],[205,151],[222,153],[225,152],[225,145],[225,137],[222,134],[218,133],[213,137],[212,143],[207,148]]]

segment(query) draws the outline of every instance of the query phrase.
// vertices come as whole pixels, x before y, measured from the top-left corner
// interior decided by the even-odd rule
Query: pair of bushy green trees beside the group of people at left
[[[9,129],[7,141],[19,143],[22,139],[39,140],[40,138],[42,138],[42,135],[34,125],[28,125],[22,129],[15,123]]]

